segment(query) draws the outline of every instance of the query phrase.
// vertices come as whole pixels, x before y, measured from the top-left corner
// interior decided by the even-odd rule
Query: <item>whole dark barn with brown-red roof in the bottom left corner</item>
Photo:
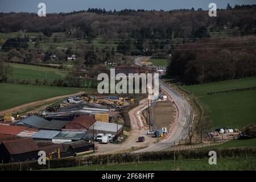
[[[38,159],[39,147],[32,138],[3,141],[0,144],[0,160],[3,163]]]

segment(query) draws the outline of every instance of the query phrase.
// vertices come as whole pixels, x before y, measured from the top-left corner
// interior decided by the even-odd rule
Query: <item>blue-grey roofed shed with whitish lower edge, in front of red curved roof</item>
[[[52,143],[67,143],[79,141],[82,139],[82,137],[84,137],[84,135],[84,132],[61,131],[52,139]]]

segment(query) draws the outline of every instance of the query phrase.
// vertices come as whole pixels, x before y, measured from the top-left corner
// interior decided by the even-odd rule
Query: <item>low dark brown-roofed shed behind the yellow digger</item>
[[[40,147],[40,150],[45,151],[46,155],[49,156],[50,153],[52,154],[52,159],[58,158],[57,150],[60,149],[60,158],[67,158],[74,155],[74,150],[70,144],[53,144],[45,147]]]

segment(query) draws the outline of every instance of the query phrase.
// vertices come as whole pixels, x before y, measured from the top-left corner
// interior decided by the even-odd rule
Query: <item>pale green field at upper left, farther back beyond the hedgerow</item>
[[[32,82],[38,78],[40,81],[47,79],[53,81],[55,79],[64,78],[66,71],[56,68],[47,68],[35,65],[26,65],[26,64],[10,64],[13,68],[13,73],[10,76],[10,79],[15,80],[19,78],[20,80],[30,80]]]

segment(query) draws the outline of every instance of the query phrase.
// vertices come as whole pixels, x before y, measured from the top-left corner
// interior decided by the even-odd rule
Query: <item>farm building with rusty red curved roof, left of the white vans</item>
[[[73,119],[65,126],[65,131],[67,130],[77,130],[77,131],[88,131],[89,127],[93,125],[96,120],[89,115],[80,115]]]

